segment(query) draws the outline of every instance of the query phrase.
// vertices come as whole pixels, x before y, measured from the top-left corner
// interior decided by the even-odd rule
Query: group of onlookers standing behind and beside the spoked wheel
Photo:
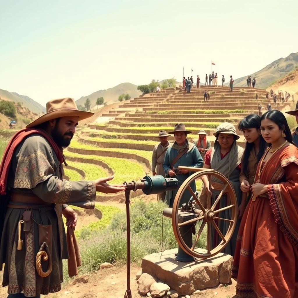
[[[298,119],[296,110],[288,111]],[[298,120],[297,120],[298,124]],[[212,168],[223,174],[232,185],[238,202],[235,231],[224,252],[234,256],[233,276],[237,278],[236,297],[298,297],[296,264],[298,263],[298,127],[291,133],[287,120],[278,110],[258,116],[249,114],[238,123],[246,145],[237,144],[240,136],[234,125],[221,123],[211,140],[205,130],[190,142],[192,131],[178,123],[167,134],[160,131],[160,143],[153,150],[153,175],[176,177],[179,187],[193,174],[179,166]],[[173,135],[175,141],[167,140]],[[211,195],[211,206],[216,198],[218,208],[228,204],[223,184],[212,176],[212,188],[207,176],[201,177],[203,188],[197,199],[206,208],[206,197]],[[190,187],[195,193],[193,181]],[[177,190],[159,196],[173,206]],[[182,204],[189,204],[193,193],[184,192]],[[221,212],[221,218],[230,217]],[[227,221],[217,221],[223,235]],[[222,241],[212,228],[212,248]],[[211,249],[212,249],[211,248]]]

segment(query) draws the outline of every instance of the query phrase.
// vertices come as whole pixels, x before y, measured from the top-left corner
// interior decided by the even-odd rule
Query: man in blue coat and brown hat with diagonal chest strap
[[[182,183],[192,174],[188,170],[180,170],[179,166],[186,167],[202,167],[203,159],[201,154],[199,153],[197,147],[193,143],[189,143],[186,139],[187,135],[190,134],[191,131],[186,130],[185,125],[183,123],[177,123],[175,125],[174,131],[169,132],[169,134],[173,134],[175,137],[174,144],[168,148],[166,155],[164,157],[164,173],[170,177],[177,177],[179,187]],[[165,201],[170,207],[173,207],[174,198],[178,189],[170,190],[166,193]],[[195,191],[195,181],[190,184],[190,187],[193,191]],[[179,206],[183,203],[186,203],[192,197],[189,190],[185,190]]]

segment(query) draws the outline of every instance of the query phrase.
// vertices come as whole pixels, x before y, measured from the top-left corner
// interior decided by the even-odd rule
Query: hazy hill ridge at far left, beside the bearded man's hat
[[[22,103],[22,106],[28,108],[30,111],[41,114],[46,111],[46,108],[41,104],[37,103],[27,95],[20,95],[16,92],[9,92],[7,90],[0,89],[0,97],[4,100],[10,100],[15,103]]]

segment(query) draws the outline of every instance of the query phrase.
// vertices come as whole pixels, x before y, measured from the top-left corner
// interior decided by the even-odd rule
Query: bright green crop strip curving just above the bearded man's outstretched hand
[[[131,160],[126,160],[124,158],[83,155],[69,151],[65,151],[65,156],[84,158],[88,160],[101,160],[107,163],[115,173],[114,179],[111,181],[111,184],[121,184],[124,181],[137,180],[145,176],[145,171],[141,164],[133,162]],[[107,174],[105,174],[104,176],[107,176]]]

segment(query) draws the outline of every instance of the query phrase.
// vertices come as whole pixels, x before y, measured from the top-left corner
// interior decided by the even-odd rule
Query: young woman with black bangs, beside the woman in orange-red
[[[246,145],[241,161],[241,172],[239,176],[242,200],[238,207],[238,218],[242,218],[246,204],[251,197],[250,187],[254,183],[254,177],[258,162],[263,156],[267,143],[263,139],[260,130],[261,117],[256,114],[249,114],[238,124],[238,129],[243,132]]]

